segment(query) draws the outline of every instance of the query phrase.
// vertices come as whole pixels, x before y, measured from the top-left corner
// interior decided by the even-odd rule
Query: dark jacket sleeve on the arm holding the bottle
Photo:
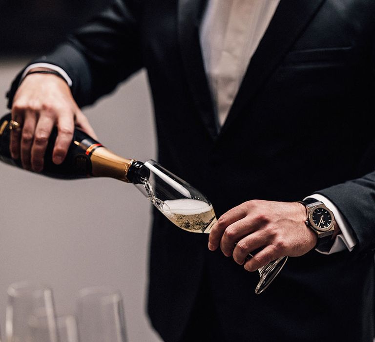
[[[143,66],[139,2],[112,1],[106,10],[69,36],[65,43],[30,64],[44,62],[62,67],[73,81],[71,91],[78,105],[92,104]],[[9,108],[22,72],[7,94]]]

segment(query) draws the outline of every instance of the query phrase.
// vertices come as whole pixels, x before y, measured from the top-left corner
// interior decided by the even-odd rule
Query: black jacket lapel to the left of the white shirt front
[[[199,41],[199,25],[206,2],[178,1],[178,38],[187,82],[198,113],[209,135],[215,138],[217,128]]]

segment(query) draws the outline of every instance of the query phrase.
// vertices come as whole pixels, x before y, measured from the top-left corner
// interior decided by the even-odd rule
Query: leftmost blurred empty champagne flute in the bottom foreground
[[[35,340],[32,325],[41,316],[46,322],[45,338]],[[52,290],[27,281],[10,285],[5,334],[6,342],[59,342]]]

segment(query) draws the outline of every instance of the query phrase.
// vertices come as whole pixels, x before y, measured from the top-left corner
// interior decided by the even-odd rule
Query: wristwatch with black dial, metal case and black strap
[[[306,226],[318,236],[315,248],[329,245],[334,232],[334,215],[331,210],[315,198],[306,198],[298,202],[306,207]]]

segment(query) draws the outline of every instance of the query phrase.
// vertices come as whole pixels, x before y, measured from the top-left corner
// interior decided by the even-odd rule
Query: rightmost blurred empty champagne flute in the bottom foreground
[[[107,287],[82,289],[77,323],[81,342],[126,342],[121,293]]]

